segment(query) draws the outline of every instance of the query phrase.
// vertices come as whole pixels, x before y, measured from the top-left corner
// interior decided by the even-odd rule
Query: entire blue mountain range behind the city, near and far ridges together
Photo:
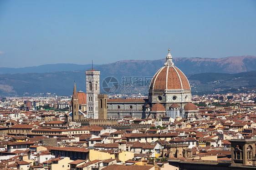
[[[114,76],[121,84],[123,76],[153,77],[164,62],[165,59],[122,60],[95,65],[94,70],[101,71],[101,82],[108,76]],[[192,94],[239,92],[256,88],[256,56],[174,58],[174,65],[187,75]],[[85,71],[91,70],[91,65],[56,64],[0,70],[5,73],[0,75],[0,96],[40,93],[71,95],[74,80],[77,90],[85,91]]]

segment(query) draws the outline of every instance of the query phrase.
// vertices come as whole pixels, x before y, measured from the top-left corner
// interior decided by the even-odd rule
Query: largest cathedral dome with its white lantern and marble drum
[[[181,109],[191,102],[189,80],[173,63],[173,57],[168,50],[164,66],[157,71],[148,89],[149,103],[161,103],[165,109],[172,108],[176,103]]]

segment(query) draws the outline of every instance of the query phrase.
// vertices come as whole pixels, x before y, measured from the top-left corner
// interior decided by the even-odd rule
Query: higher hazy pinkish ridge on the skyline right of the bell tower
[[[176,65],[184,74],[198,73],[240,73],[256,70],[256,56],[244,55],[225,58],[175,58]],[[108,75],[154,75],[163,65],[161,60],[122,60],[106,65],[98,65],[95,69]]]

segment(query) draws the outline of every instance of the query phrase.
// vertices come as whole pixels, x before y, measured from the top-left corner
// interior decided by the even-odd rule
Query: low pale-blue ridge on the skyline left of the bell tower
[[[91,67],[92,67],[91,64],[88,64],[88,65],[49,64],[49,65],[39,65],[39,66],[33,66],[33,67],[23,67],[23,68],[0,67],[0,74],[47,73],[47,72],[55,72],[55,71],[84,70]]]

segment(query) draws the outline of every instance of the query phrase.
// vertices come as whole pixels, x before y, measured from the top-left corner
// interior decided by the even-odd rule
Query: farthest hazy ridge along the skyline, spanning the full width
[[[256,70],[256,56],[244,55],[224,58],[176,58],[176,65],[184,74],[198,73],[240,73]],[[165,59],[161,60],[122,60],[110,64],[94,65],[102,74],[120,75],[154,75],[164,65]],[[76,64],[50,64],[24,68],[0,67],[0,74],[16,73],[46,73],[55,71],[87,70],[91,65]]]

